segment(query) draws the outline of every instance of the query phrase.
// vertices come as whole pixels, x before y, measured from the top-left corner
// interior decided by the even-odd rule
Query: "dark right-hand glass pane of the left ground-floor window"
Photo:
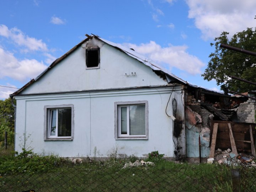
[[[71,137],[71,108],[58,109],[58,137]]]

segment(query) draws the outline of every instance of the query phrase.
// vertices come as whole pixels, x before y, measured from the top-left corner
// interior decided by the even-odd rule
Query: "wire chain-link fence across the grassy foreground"
[[[1,174],[0,191],[233,191],[233,167],[159,162],[63,164],[48,171]],[[256,191],[256,167],[239,168],[241,191]],[[237,181],[237,180],[236,180]],[[233,184],[232,184],[233,183]],[[239,183],[239,184],[240,184]]]

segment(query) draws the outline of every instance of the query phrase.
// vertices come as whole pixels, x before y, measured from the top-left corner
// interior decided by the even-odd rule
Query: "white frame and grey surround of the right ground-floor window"
[[[145,106],[145,135],[130,135],[129,134],[129,106],[144,105]],[[127,107],[127,134],[121,134],[121,108]],[[116,139],[148,139],[148,101],[128,101],[115,102],[115,138]]]

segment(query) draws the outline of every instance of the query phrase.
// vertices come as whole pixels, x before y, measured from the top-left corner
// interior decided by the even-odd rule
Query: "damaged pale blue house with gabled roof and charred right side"
[[[19,153],[25,146],[46,155],[106,157],[118,148],[128,156],[158,150],[198,158],[200,135],[201,156],[208,157],[215,121],[239,118],[230,96],[188,84],[95,35],[10,96],[17,101]]]

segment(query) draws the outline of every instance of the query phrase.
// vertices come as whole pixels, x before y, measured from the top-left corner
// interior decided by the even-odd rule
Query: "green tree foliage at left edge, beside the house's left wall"
[[[0,100],[0,144],[3,143],[5,131],[8,133],[8,144],[14,143],[14,107],[11,98]]]

